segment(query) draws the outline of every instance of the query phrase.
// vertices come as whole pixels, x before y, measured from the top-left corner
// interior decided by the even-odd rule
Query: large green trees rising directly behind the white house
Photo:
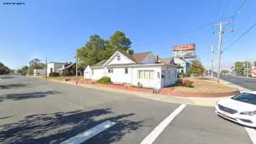
[[[133,53],[131,46],[132,42],[122,31],[116,31],[109,39],[103,39],[97,34],[91,35],[89,41],[78,49],[78,67],[97,64],[110,58],[116,50]]]

